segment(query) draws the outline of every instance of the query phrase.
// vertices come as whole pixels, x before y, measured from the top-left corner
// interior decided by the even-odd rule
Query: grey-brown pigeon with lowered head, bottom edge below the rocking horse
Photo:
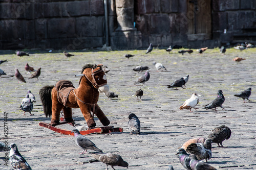
[[[122,167],[127,167],[129,164],[125,162],[120,155],[117,154],[91,154],[92,157],[97,159],[100,162],[103,162],[106,164],[106,170],[108,170],[108,165],[110,165],[113,169],[114,166],[122,166]]]

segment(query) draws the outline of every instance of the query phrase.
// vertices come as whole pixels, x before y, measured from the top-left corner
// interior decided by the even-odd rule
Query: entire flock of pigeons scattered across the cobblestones
[[[203,53],[204,51],[207,50],[207,48],[208,47],[200,48],[197,51],[199,53]],[[240,47],[240,46],[238,48],[239,48],[239,50],[242,49],[242,47]],[[246,48],[244,48],[244,49],[246,49]],[[150,46],[147,48],[146,54],[150,53],[152,50],[153,50],[153,45],[151,43]],[[167,52],[172,51],[172,47],[169,46],[166,49],[166,51]],[[220,51],[221,51],[221,53],[225,53],[226,48],[224,46],[222,46],[220,48]],[[181,53],[182,55],[186,52],[190,54],[190,53],[193,53],[193,50],[189,49],[189,50],[179,51],[179,53]],[[71,55],[66,52],[63,52],[63,53],[67,57],[74,56],[74,55]],[[20,57],[25,56],[25,55],[29,56],[29,54],[26,52],[16,51],[16,54]],[[129,59],[130,57],[134,57],[134,55],[127,54],[127,55],[125,55],[125,57]],[[242,60],[244,60],[244,59],[241,59],[240,61],[242,61]],[[0,64],[4,63],[6,61],[7,60],[0,60]],[[153,65],[156,67],[157,71],[163,70],[163,69],[167,70],[161,63],[153,62]],[[104,72],[110,71],[110,69],[108,69],[108,67],[103,67],[103,68],[104,68]],[[25,65],[25,70],[28,71],[28,73],[30,73],[31,71],[35,71],[34,74],[32,74],[30,78],[38,79],[38,77],[40,76],[40,68],[35,70],[33,67],[29,66],[28,63]],[[137,67],[133,68],[133,70],[138,71],[138,72],[142,72],[142,71],[146,70],[145,74],[143,76],[139,77],[138,80],[134,84],[139,84],[139,83],[144,84],[145,82],[147,82],[150,79],[150,72],[149,72],[149,68],[147,66],[137,66]],[[2,69],[0,69],[0,76],[1,75],[6,75]],[[19,81],[26,83],[24,77],[20,74],[18,69],[15,69],[15,77],[18,79],[18,83],[19,83]],[[168,88],[173,87],[173,88],[177,89],[177,87],[185,86],[185,84],[188,82],[188,78],[189,78],[189,75],[187,75],[186,77],[182,77],[181,79],[174,81],[172,84],[167,85],[167,87]],[[251,94],[251,88],[248,88],[238,94],[234,94],[234,96],[242,98],[245,102],[245,99],[250,101],[249,100],[250,94]],[[105,93],[105,95],[108,96],[109,100],[112,100],[112,98],[118,98],[118,95],[111,91]],[[137,96],[137,100],[141,101],[141,97],[143,95],[142,89],[139,88],[139,90],[136,91],[135,95]],[[182,106],[180,106],[180,109],[181,110],[189,109],[190,112],[191,112],[191,108],[198,109],[198,108],[196,108],[197,104],[199,103],[198,96],[200,96],[200,95],[196,94],[196,93],[192,94],[191,98],[186,100],[184,102],[184,104]],[[138,98],[140,98],[140,99],[138,99]],[[224,109],[222,107],[222,104],[224,103],[224,101],[225,101],[225,98],[223,95],[223,91],[219,90],[217,98],[214,101],[212,101],[211,103],[205,105],[204,109],[215,109],[216,110],[217,107],[221,107],[222,109]],[[32,94],[32,92],[30,90],[28,90],[26,97],[22,100],[22,103],[20,105],[20,108],[24,111],[24,115],[25,115],[25,112],[29,112],[30,115],[33,115],[33,114],[31,114],[31,111],[33,109],[34,102],[36,102],[35,96]],[[129,115],[128,118],[129,118],[128,127],[131,131],[131,134],[132,133],[140,134],[140,120],[138,119],[138,117],[134,113],[132,113]],[[90,139],[88,139],[86,136],[81,135],[78,129],[79,128],[74,129],[72,131],[72,133],[74,133],[74,135],[75,135],[76,144],[78,145],[78,147],[80,147],[83,150],[81,152],[81,154],[87,153],[87,150],[93,150],[93,151],[99,152],[100,154],[89,153],[89,155],[94,157],[97,161],[101,161],[101,162],[105,163],[106,169],[108,169],[108,165],[111,165],[111,167],[113,169],[115,169],[114,166],[122,166],[122,167],[128,168],[129,164],[127,162],[125,162],[120,155],[112,154],[112,153],[103,153],[102,150],[97,148],[96,145]],[[182,145],[181,148],[178,149],[177,154],[179,155],[180,163],[182,164],[182,166],[185,169],[193,169],[193,170],[194,169],[197,169],[197,170],[216,169],[215,167],[206,163],[207,160],[209,160],[212,157],[211,143],[215,142],[215,143],[218,143],[219,147],[223,147],[222,142],[225,139],[229,139],[230,136],[231,136],[231,130],[228,127],[222,125],[220,127],[215,128],[212,131],[212,133],[210,133],[208,135],[208,138],[206,138],[206,139],[203,137],[189,139],[187,142],[185,142]],[[0,145],[0,149],[1,149],[1,145]],[[27,161],[18,152],[17,145],[15,143],[12,143],[10,145],[9,159],[10,159],[10,163],[11,163],[12,167],[15,169],[31,169],[31,167],[27,163]],[[206,162],[203,162],[201,160],[205,160]]]

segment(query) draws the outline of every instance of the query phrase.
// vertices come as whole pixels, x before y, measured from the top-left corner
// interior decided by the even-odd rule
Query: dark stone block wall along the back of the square
[[[212,39],[189,42],[186,0],[127,1],[134,1],[135,32],[117,29],[116,0],[108,0],[113,49],[147,47],[150,42],[160,47],[214,47],[232,41],[234,34],[246,34],[243,29],[255,27],[256,22],[256,0],[212,0]],[[0,0],[0,50],[101,47],[105,36],[103,0]]]

